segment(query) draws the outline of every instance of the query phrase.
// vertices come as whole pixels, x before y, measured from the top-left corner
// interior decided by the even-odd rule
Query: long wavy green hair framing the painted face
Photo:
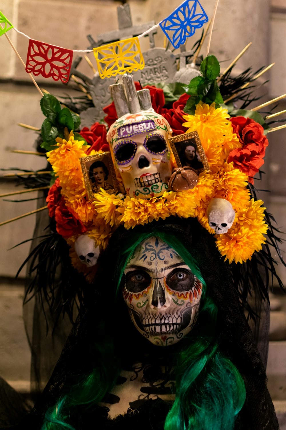
[[[140,243],[148,237],[160,237],[184,259],[194,275],[202,282],[203,292],[200,316],[195,328],[183,338],[181,350],[175,355],[176,397],[166,421],[165,430],[231,430],[245,401],[244,381],[230,359],[220,351],[217,338],[217,307],[208,295],[195,259],[173,234],[161,230],[151,233],[134,231],[132,244],[123,243],[114,273],[117,282],[116,299],[120,297],[120,281],[126,262]],[[104,326],[104,322],[101,322]],[[104,330],[102,330],[103,332]],[[115,342],[112,338],[99,339],[96,350],[97,363],[90,375],[85,375],[57,405],[45,414],[42,430],[75,430],[69,411],[76,405],[97,403],[114,386],[120,371],[114,362]]]

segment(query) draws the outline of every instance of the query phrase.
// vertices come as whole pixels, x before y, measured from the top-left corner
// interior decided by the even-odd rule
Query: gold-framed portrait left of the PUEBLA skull
[[[81,157],[80,163],[85,188],[90,200],[93,200],[94,193],[100,192],[99,188],[103,188],[108,194],[118,193],[110,151]]]

